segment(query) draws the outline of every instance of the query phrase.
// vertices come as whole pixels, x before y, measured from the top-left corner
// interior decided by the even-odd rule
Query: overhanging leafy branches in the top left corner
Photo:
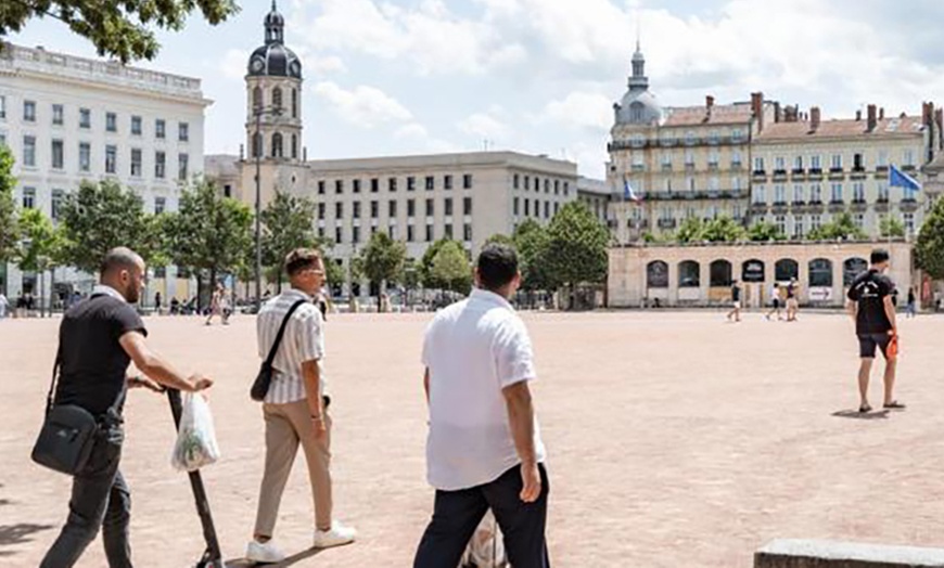
[[[151,60],[161,48],[154,28],[178,31],[196,9],[211,25],[239,11],[234,0],[7,0],[0,5],[0,38],[20,31],[29,20],[51,16],[89,39],[99,55],[122,63]]]

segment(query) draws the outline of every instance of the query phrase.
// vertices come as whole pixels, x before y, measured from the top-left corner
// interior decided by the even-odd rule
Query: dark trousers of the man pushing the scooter
[[[124,433],[114,426],[95,441],[89,463],[73,478],[68,518],[40,568],[69,568],[95,539],[99,528],[111,568],[131,568],[128,524],[131,494],[118,463]]]

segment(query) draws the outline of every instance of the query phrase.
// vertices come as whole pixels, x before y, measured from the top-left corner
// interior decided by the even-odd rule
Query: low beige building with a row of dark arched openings
[[[891,254],[889,275],[900,291],[913,282],[911,245],[894,243],[769,243],[741,245],[624,246],[610,249],[609,305],[729,306],[740,282],[748,308],[766,306],[775,283],[796,279],[802,305],[842,307],[873,248]],[[904,293],[904,292],[903,292]]]

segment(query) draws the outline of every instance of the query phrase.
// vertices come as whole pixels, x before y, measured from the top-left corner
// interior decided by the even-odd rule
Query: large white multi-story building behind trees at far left
[[[179,182],[203,170],[208,104],[199,79],[42,48],[0,50],[0,142],[16,159],[16,199],[53,220],[82,180],[113,179],[141,195],[145,210],[174,210]],[[169,296],[176,272],[168,271]],[[56,276],[91,285],[89,275]],[[36,274],[0,264],[8,295],[35,294],[37,284]]]

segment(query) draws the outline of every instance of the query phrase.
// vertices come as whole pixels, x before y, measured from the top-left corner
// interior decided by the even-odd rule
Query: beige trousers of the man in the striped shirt
[[[299,443],[308,462],[308,479],[315,500],[315,526],[322,530],[331,528],[331,416],[328,409],[324,409],[328,434],[323,440],[315,436],[306,400],[289,404],[263,404],[263,414],[266,418],[266,473],[259,490],[255,534],[272,537],[282,492],[292,473]]]

